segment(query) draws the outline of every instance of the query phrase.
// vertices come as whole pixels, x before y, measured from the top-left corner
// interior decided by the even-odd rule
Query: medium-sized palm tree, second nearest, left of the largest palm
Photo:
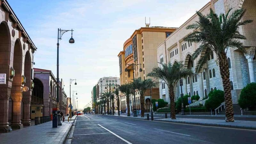
[[[175,116],[175,104],[174,104],[174,87],[176,83],[188,75],[195,75],[190,69],[184,68],[182,62],[175,62],[173,65],[168,62],[168,64],[160,63],[161,67],[155,67],[152,69],[147,76],[151,76],[160,80],[163,80],[167,84],[169,89],[169,97],[171,104],[171,118],[176,119]]]

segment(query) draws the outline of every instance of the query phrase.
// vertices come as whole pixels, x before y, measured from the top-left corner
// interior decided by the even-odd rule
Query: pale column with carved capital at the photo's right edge
[[[249,76],[250,76],[250,82],[255,82],[255,73],[254,73],[254,67],[253,67],[253,58],[255,56],[255,47],[250,47],[248,49],[248,52],[245,54],[245,58],[248,62],[248,69],[249,69]]]

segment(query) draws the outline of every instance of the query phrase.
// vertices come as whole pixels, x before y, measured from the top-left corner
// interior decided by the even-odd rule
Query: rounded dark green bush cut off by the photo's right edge
[[[256,106],[256,83],[247,84],[241,90],[238,104],[241,108]]]

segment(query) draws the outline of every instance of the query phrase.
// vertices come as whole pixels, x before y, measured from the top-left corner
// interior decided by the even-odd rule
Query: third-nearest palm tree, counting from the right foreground
[[[134,79],[133,82],[131,82],[133,87],[138,90],[138,93],[140,95],[140,110],[141,110],[141,117],[144,117],[144,94],[147,89],[151,88],[154,85],[154,82],[152,79],[145,79],[141,80],[141,77]]]

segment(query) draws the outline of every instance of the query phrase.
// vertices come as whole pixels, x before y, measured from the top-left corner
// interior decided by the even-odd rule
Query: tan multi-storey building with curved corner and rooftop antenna
[[[128,84],[134,78],[141,77],[142,80],[147,78],[147,74],[152,68],[157,66],[157,51],[156,46],[160,44],[166,37],[172,34],[176,28],[167,27],[142,27],[133,32],[132,36],[124,42],[123,51],[119,52],[119,71],[120,84]],[[134,68],[133,68],[134,66]],[[125,68],[128,70],[125,72]],[[142,71],[140,72],[140,68]],[[158,81],[152,78],[155,81]],[[158,87],[152,88],[153,99],[159,99]],[[150,98],[150,91],[145,93],[145,100]],[[132,95],[130,96],[132,102],[131,109],[134,105]],[[136,109],[140,109],[140,95],[136,92],[135,95]],[[124,94],[120,97],[121,110],[126,112],[127,102]],[[145,107],[146,111],[148,107]]]

